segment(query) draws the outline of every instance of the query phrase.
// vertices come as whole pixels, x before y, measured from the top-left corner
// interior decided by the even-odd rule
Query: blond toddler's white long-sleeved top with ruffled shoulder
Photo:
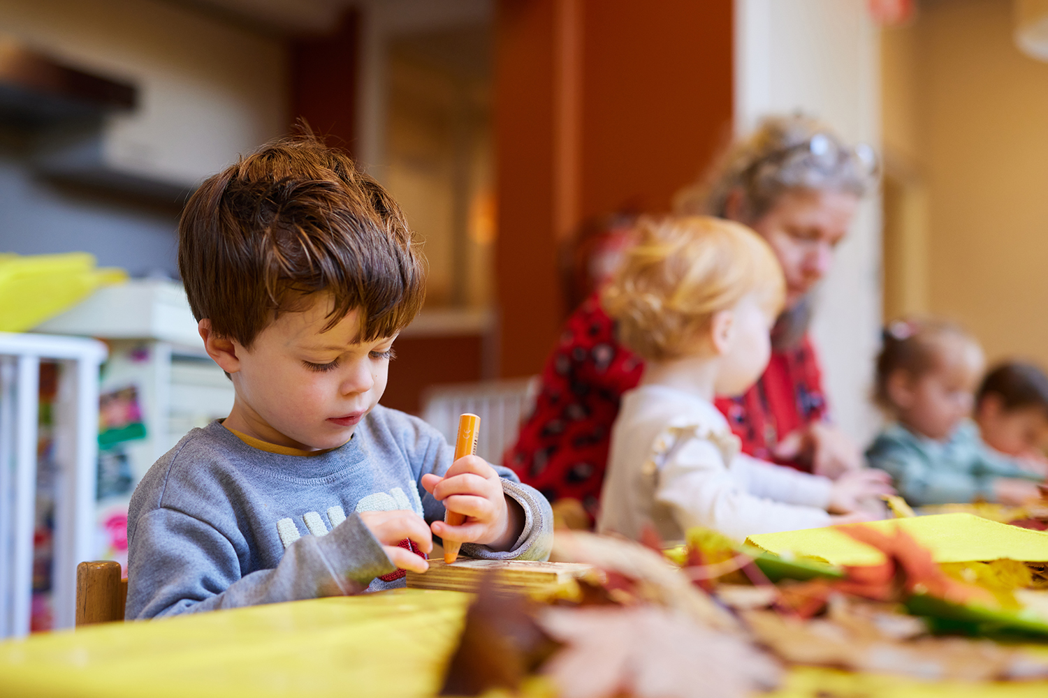
[[[832,482],[739,452],[739,438],[709,402],[662,385],[623,396],[597,531],[633,539],[646,524],[663,541],[692,526],[747,536],[830,525]]]

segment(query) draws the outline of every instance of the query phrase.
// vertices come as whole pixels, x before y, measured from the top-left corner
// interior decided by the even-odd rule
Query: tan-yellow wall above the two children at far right
[[[1017,49],[1012,13],[924,0],[883,31],[886,312],[946,315],[990,358],[1044,364],[1048,64]]]

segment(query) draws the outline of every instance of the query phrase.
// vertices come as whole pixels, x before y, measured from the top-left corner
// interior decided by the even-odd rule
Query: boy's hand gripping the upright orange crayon
[[[508,550],[524,527],[524,511],[502,491],[502,478],[486,460],[466,455],[447,469],[443,477],[422,475],[425,491],[450,512],[461,514],[461,525],[434,521],[430,527],[441,540],[480,543],[493,550]]]

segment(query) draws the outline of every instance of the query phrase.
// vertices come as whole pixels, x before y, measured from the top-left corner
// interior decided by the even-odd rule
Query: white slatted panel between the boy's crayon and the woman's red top
[[[538,376],[512,381],[435,385],[422,395],[422,419],[454,444],[459,415],[463,412],[478,415],[477,455],[501,465],[502,452],[517,441],[521,419],[531,411],[538,390]]]

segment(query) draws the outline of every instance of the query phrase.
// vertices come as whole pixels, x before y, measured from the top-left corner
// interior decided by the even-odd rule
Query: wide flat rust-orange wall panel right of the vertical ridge
[[[662,211],[730,135],[732,2],[590,0],[582,215]]]

